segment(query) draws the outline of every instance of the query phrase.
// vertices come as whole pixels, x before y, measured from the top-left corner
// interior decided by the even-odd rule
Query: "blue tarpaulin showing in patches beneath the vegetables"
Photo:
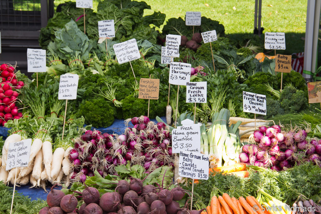
[[[166,120],[165,117],[161,117],[162,120]],[[151,119],[152,121],[154,121],[155,123],[157,123],[156,119]],[[131,123],[130,123],[131,124]],[[130,126],[128,124],[128,126]],[[131,125],[130,127],[132,127],[133,125]],[[114,123],[107,127],[107,128],[92,128],[92,129],[96,129],[101,131],[102,133],[108,133],[108,134],[122,134],[125,131],[125,124],[124,124],[124,120],[118,120],[116,119],[114,121]],[[6,127],[1,127],[0,128],[0,135],[4,136],[4,138],[7,137],[7,131],[8,128]],[[12,186],[12,185],[10,185]],[[47,193],[44,191],[44,189],[42,188],[31,188],[29,189],[29,187],[31,186],[31,184],[27,184],[25,186],[16,186],[16,191],[18,191],[18,193],[22,193],[25,196],[29,196],[31,198],[31,200],[37,200],[38,198],[42,199],[42,200],[46,200],[47,199]],[[48,191],[50,191],[51,188],[51,184],[48,183],[48,187],[46,188]],[[13,186],[12,186],[13,187]]]

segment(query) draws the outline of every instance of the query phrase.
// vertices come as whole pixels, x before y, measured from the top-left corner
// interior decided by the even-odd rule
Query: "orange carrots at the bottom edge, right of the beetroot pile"
[[[201,214],[265,214],[262,211],[261,204],[254,196],[247,196],[246,199],[239,197],[230,197],[229,194],[223,193],[222,196],[212,197],[210,206]]]

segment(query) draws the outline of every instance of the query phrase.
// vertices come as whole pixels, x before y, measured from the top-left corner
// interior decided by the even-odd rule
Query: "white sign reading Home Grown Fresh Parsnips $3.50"
[[[191,64],[171,62],[169,64],[169,83],[173,85],[186,85],[191,80]]]

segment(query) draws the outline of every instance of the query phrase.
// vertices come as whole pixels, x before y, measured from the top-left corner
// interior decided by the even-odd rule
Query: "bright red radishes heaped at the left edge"
[[[0,76],[2,77],[0,87],[0,123],[2,126],[8,121],[19,119],[22,113],[18,112],[18,107],[15,105],[19,92],[24,86],[23,81],[18,81],[14,73],[14,67],[9,64],[0,65]]]

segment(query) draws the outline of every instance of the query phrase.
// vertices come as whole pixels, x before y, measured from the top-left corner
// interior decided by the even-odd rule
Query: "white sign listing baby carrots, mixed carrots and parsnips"
[[[198,152],[180,151],[178,175],[192,179],[208,179],[208,156]]]

